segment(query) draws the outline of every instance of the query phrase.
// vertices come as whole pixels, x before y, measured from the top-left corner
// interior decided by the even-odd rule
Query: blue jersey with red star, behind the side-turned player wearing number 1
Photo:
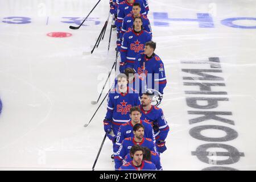
[[[137,55],[143,52],[145,43],[151,39],[151,34],[144,30],[139,34],[134,30],[125,32],[120,51],[121,62],[134,65]]]

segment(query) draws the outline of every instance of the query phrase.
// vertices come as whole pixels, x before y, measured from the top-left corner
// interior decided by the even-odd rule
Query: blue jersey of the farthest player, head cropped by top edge
[[[142,0],[135,0],[136,3],[141,5],[141,14],[146,15],[146,9]],[[130,14],[133,10],[133,4],[128,3],[127,1],[120,2],[117,9],[117,21],[115,22],[115,26],[117,26],[117,30],[120,31],[123,23],[123,19],[127,14]]]

